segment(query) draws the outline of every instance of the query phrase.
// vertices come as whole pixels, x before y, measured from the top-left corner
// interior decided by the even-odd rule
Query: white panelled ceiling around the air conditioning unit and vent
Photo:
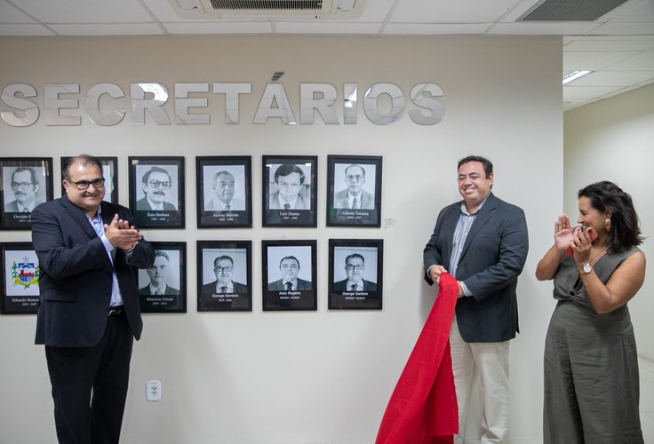
[[[363,13],[354,20],[299,16],[187,20],[180,18],[167,0],[0,0],[0,38],[164,34],[564,36],[563,74],[593,71],[562,87],[564,109],[654,83],[654,0],[628,0],[594,21],[516,21],[538,3],[367,0]]]

